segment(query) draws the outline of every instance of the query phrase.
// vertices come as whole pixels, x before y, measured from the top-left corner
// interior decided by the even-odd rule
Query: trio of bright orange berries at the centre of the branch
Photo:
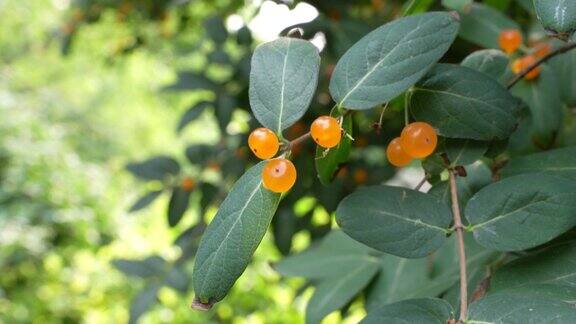
[[[342,131],[335,118],[321,116],[312,123],[310,135],[318,145],[332,148],[340,143]],[[257,128],[248,137],[248,146],[258,158],[267,160],[278,153],[280,141],[270,129]],[[294,183],[296,183],[296,168],[288,159],[283,157],[272,159],[262,170],[262,184],[270,191],[283,193],[290,190]]]

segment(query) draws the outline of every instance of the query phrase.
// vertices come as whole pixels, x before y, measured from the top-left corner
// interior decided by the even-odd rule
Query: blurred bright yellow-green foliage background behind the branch
[[[181,243],[187,229],[213,217],[218,199],[204,202],[206,188],[229,188],[254,162],[246,161],[242,144],[254,126],[246,96],[254,46],[320,12],[322,19],[307,31],[308,38],[315,28],[333,32],[316,39],[320,46],[328,40],[322,73],[329,75],[335,58],[370,25],[397,15],[406,3],[277,2],[0,0],[0,322],[303,322],[311,288],[303,280],[281,279],[270,263],[324,235],[338,197],[356,184],[390,178],[389,166],[367,180],[366,169],[373,166],[352,165],[344,171],[354,186],[342,183],[338,188],[347,189],[322,194],[311,165],[304,189],[295,189],[276,217],[282,222],[292,219],[286,213],[305,215],[309,230],[292,230],[286,244],[278,231],[284,223],[275,224],[274,237],[267,234],[231,295],[210,312],[189,307],[193,263],[190,250],[175,240]],[[425,10],[432,1],[421,3]],[[339,23],[343,16],[355,18]],[[186,76],[183,70],[203,72]],[[316,112],[330,107],[326,85],[312,108]],[[176,91],[165,91],[170,87]],[[200,91],[178,91],[189,88]],[[203,101],[215,101],[217,109],[197,114],[177,134],[183,114]],[[395,106],[401,105],[400,98]],[[384,118],[388,129],[402,125],[397,110]],[[370,131],[379,111],[374,114],[359,116],[355,127]],[[386,136],[376,141],[384,143]],[[357,138],[357,144],[372,140]],[[236,168],[186,164],[191,143],[226,147],[222,151],[238,161],[223,159]],[[375,151],[372,160],[382,161],[383,151]],[[166,188],[181,175],[168,182],[138,181],[126,171],[127,164],[155,155],[180,162],[181,174],[192,175],[198,186],[202,179],[173,227],[166,221],[170,194],[129,213],[147,192],[176,190]],[[346,321],[357,321],[363,312],[352,305]]]

